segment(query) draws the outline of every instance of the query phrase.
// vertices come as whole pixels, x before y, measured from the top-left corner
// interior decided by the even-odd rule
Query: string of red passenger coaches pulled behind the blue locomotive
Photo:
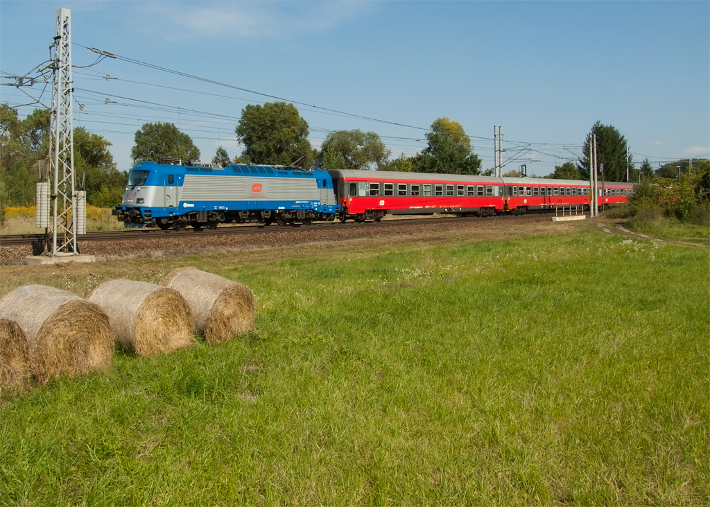
[[[589,209],[589,182],[545,178],[492,178],[373,170],[330,170],[339,219],[379,221],[386,214],[522,214],[530,209]],[[601,182],[599,204],[626,202],[630,183]]]

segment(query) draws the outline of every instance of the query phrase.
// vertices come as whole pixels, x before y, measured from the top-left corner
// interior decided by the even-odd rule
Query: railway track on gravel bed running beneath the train
[[[535,215],[531,215],[534,217]],[[408,219],[385,219],[382,222],[366,222],[358,224],[356,222],[323,222],[310,225],[296,224],[290,227],[279,227],[278,225],[257,225],[244,224],[237,226],[223,225],[217,229],[124,229],[120,231],[97,231],[89,234],[77,236],[77,241],[141,241],[143,239],[190,239],[207,236],[222,236],[226,234],[268,234],[273,232],[283,231],[336,231],[343,229],[381,229],[387,227],[400,227],[403,224],[407,225],[432,225],[432,224],[447,224],[451,222],[471,222],[471,221],[506,221],[520,220],[521,217],[439,217],[439,218],[408,218]],[[15,234],[0,236],[0,246],[27,246],[33,244],[43,244],[45,242],[45,234]]]

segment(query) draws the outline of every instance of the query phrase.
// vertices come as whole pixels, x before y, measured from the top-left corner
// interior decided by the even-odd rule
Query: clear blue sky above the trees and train
[[[203,161],[234,157],[241,109],[274,97],[297,105],[313,146],[375,131],[392,158],[421,151],[442,116],[484,168],[494,126],[506,171],[547,175],[597,120],[637,163],[710,157],[708,1],[0,0],[0,82],[48,60],[60,8],[74,65],[97,60],[87,47],[121,57],[74,70],[75,126],[107,138],[121,170],[146,122],[177,125]],[[0,87],[12,107],[35,99],[50,87]]]

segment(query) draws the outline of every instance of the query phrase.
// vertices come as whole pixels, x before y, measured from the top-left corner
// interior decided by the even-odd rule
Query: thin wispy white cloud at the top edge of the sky
[[[355,1],[160,2],[146,9],[160,16],[173,37],[290,38],[324,32],[359,18],[373,4]]]

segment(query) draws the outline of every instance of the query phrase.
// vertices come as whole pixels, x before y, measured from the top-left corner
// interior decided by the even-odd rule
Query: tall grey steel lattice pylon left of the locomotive
[[[74,129],[72,114],[72,32],[69,9],[57,11],[57,32],[53,47],[52,109],[50,111],[49,182],[53,185],[52,219],[49,222],[51,256],[77,253]],[[48,241],[50,234],[48,231]]]

